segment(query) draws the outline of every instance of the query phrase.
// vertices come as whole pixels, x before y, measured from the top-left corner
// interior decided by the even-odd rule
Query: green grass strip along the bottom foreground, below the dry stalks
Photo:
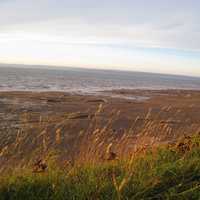
[[[2,176],[0,200],[200,199],[200,135],[131,160]],[[186,148],[186,147],[189,147]]]

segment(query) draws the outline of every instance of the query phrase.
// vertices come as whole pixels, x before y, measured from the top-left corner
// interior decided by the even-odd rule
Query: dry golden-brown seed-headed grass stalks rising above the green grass
[[[176,142],[181,135],[191,135],[198,132],[198,124],[190,129],[182,128],[178,117],[168,118],[171,107],[163,107],[156,114],[150,108],[142,117],[133,119],[127,129],[115,129],[120,120],[120,112],[112,110],[108,120],[102,115],[104,104],[99,104],[96,111],[85,123],[85,128],[77,128],[80,121],[71,120],[79,113],[68,113],[59,122],[56,116],[36,116],[23,114],[21,128],[17,133],[8,134],[7,142],[0,149],[0,158],[5,168],[31,166],[36,160],[47,159],[49,152],[56,152],[58,164],[97,163],[115,159],[130,159],[137,151],[157,145],[167,145]],[[177,115],[182,111],[178,110]],[[164,120],[163,116],[166,115]],[[162,116],[162,117],[161,117]],[[82,117],[82,115],[81,115]],[[30,121],[38,121],[31,124]],[[71,130],[79,131],[72,134]],[[5,139],[5,138],[4,138]]]

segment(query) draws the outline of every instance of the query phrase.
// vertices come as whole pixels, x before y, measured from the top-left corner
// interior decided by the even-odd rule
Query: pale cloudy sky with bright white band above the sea
[[[0,63],[200,76],[199,0],[0,0]]]

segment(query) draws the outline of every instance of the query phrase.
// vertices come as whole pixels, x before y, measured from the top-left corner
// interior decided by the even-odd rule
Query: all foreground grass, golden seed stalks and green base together
[[[120,112],[105,121],[103,109],[99,105],[88,127],[75,136],[68,135],[67,128],[75,127],[69,116],[53,125],[42,118],[33,127],[25,123],[0,152],[2,160],[21,159],[18,170],[10,165],[11,171],[0,176],[0,200],[200,199],[200,134],[187,136],[191,132],[182,133],[177,120],[160,119],[170,107],[156,116],[149,109],[128,130],[116,132]],[[59,165],[68,154],[72,160]],[[43,173],[31,168],[37,157],[48,166]]]

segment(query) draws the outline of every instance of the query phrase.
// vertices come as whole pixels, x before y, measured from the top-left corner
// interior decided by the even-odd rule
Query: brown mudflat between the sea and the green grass
[[[200,91],[0,92],[0,166],[124,157],[200,131]]]

